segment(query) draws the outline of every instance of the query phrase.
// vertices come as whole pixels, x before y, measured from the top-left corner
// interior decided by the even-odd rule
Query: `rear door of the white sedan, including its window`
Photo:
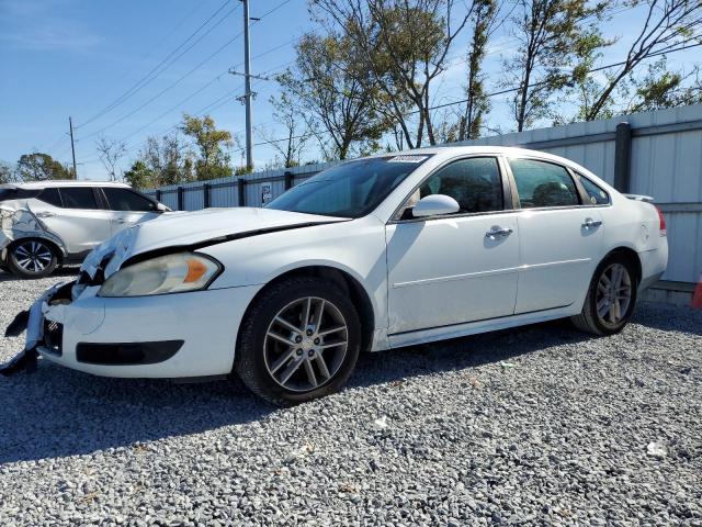
[[[597,206],[568,168],[511,157],[508,166],[521,209],[521,270],[514,313],[565,307],[582,298],[600,260],[603,229]]]

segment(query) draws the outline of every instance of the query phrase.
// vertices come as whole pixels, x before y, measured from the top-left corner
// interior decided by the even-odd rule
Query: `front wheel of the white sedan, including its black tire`
[[[359,315],[336,282],[290,278],[248,310],[234,370],[257,395],[290,406],[338,391],[360,346]]]

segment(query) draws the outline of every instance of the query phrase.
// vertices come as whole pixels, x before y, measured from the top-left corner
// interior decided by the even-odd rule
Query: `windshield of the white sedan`
[[[279,211],[361,217],[373,211],[430,154],[348,161],[293,187],[265,205]]]

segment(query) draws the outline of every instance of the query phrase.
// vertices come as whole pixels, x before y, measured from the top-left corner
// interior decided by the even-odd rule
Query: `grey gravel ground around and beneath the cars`
[[[0,327],[67,278],[0,271]],[[702,525],[702,313],[364,356],[290,410],[41,362],[0,423],[0,525]]]

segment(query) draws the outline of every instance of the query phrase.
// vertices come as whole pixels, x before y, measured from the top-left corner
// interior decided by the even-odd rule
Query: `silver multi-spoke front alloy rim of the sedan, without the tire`
[[[339,371],[349,346],[341,311],[328,300],[306,296],[273,317],[263,343],[265,368],[286,390],[307,392]]]

